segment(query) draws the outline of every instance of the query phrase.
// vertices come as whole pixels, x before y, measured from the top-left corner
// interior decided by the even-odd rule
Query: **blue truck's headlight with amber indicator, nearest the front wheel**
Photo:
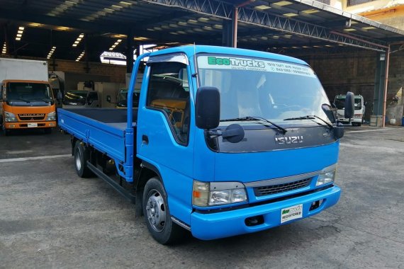
[[[245,186],[240,182],[193,181],[192,204],[200,207],[246,202]]]

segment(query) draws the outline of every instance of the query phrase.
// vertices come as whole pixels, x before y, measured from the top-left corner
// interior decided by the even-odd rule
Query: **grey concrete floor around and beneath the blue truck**
[[[31,132],[0,142],[0,268],[404,268],[404,127],[347,128],[335,207],[257,234],[179,246],[153,241],[106,183],[78,178],[69,136]]]

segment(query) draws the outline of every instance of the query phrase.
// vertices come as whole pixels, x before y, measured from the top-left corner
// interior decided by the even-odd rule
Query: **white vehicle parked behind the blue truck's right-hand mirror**
[[[338,120],[343,124],[349,124],[351,122],[352,126],[361,126],[364,123],[364,115],[366,103],[364,101],[364,97],[359,95],[354,98],[354,116],[351,120],[344,118],[344,110],[345,110],[345,98],[347,98],[344,94],[339,94],[335,96],[334,103],[337,107]]]

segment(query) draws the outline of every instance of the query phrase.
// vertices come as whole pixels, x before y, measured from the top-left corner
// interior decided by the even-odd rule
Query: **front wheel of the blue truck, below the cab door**
[[[181,227],[172,222],[167,203],[167,193],[157,178],[145,185],[142,200],[147,229],[160,244],[175,244],[182,234]]]

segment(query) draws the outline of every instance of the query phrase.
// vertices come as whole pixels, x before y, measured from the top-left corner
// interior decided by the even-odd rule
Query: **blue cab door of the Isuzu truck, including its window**
[[[189,223],[193,183],[193,98],[185,55],[150,57],[140,93],[138,157],[158,170],[173,216]]]

